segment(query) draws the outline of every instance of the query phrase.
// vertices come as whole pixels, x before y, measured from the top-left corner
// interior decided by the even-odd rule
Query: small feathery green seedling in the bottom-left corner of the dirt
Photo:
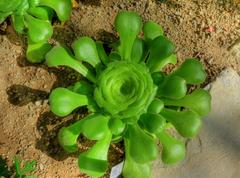
[[[22,161],[18,157],[15,157],[13,165],[16,172],[14,178],[37,178],[37,176],[26,176],[26,174],[36,170],[36,161],[27,161],[22,165]]]

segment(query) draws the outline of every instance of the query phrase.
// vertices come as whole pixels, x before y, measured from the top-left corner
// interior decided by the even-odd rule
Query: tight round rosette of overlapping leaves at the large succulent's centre
[[[97,104],[118,118],[146,112],[156,87],[144,64],[116,61],[100,74],[94,91]]]

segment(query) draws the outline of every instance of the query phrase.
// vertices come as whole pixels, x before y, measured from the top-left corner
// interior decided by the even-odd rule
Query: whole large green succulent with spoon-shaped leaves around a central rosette
[[[123,176],[148,178],[159,152],[165,164],[184,159],[184,143],[170,134],[169,125],[182,137],[198,134],[201,118],[210,111],[211,97],[203,89],[187,91],[188,85],[204,82],[206,73],[196,59],[186,59],[169,75],[164,73],[167,64],[177,62],[175,47],[158,24],[143,24],[134,12],[120,12],[115,28],[119,41],[111,45],[109,54],[101,42],[89,37],[77,39],[73,53],[61,45],[47,53],[49,67],[67,66],[88,79],[54,89],[50,108],[61,117],[81,106],[89,110],[88,116],[61,128],[58,134],[60,145],[69,153],[78,150],[81,134],[96,141],[79,155],[81,172],[104,175],[110,143],[123,140]],[[138,36],[141,31],[143,38]]]

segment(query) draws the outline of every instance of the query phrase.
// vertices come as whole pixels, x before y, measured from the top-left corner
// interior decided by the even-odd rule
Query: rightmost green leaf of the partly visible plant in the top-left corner
[[[39,5],[54,9],[61,22],[65,22],[70,18],[72,10],[71,0],[39,0]]]

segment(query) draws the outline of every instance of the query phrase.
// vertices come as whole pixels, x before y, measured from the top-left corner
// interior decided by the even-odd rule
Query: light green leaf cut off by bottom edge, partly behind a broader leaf
[[[123,166],[123,177],[149,178],[151,176],[151,164],[150,163],[139,164],[132,159],[129,151],[129,140],[127,138],[124,139],[124,147],[125,147],[125,160]]]

